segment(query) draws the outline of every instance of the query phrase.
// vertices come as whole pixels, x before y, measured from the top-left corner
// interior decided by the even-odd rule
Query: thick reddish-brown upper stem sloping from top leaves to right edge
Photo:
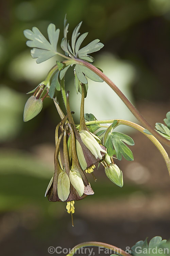
[[[98,68],[91,65],[85,60],[76,59],[76,63],[82,66],[85,66],[95,72],[98,76],[100,76],[119,96],[119,98],[125,103],[125,105],[129,108],[129,110],[133,113],[133,115],[139,120],[139,122],[148,129],[159,141],[165,143],[166,145],[170,146],[170,141],[166,138],[162,137],[159,133],[157,133],[152,126],[147,122],[147,120],[139,113],[139,111],[132,105],[132,103],[126,98],[126,96],[119,90],[119,88],[105,75],[103,74]]]

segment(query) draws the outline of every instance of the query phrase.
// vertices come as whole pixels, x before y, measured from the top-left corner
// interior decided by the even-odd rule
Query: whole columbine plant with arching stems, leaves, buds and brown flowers
[[[69,24],[67,24],[65,17],[64,37],[61,41],[64,54],[57,51],[60,30],[56,29],[54,24],[50,24],[47,29],[49,41],[36,27],[33,27],[32,30],[24,30],[25,37],[29,39],[27,45],[32,47],[31,56],[37,58],[37,63],[54,56],[63,57],[63,61],[56,60],[56,65],[50,69],[46,79],[30,92],[33,95],[26,102],[23,118],[24,122],[27,122],[35,117],[41,111],[46,97],[53,100],[61,117],[61,122],[57,124],[55,130],[54,174],[45,196],[48,197],[49,201],[67,202],[66,208],[71,216],[74,213],[75,200],[81,200],[87,195],[94,194],[86,174],[92,173],[94,176],[93,171],[97,163],[103,165],[107,177],[112,182],[120,187],[123,186],[122,171],[115,164],[114,159],[121,160],[123,156],[126,160],[132,161],[133,153],[126,144],[134,145],[134,141],[126,134],[114,131],[114,128],[118,125],[128,125],[145,134],[163,155],[170,173],[170,159],[158,141],[160,140],[170,146],[170,112],[167,113],[167,118],[164,119],[167,126],[157,123],[156,130],[154,130],[116,85],[99,68],[92,65],[95,60],[90,54],[99,51],[104,45],[99,39],[95,39],[81,48],[81,44],[88,34],[80,35],[81,24],[79,23],[75,27],[70,46],[67,40]],[[79,125],[74,123],[72,116],[74,112],[70,110],[69,91],[65,91],[64,77],[69,68],[73,68],[77,94],[79,92],[82,95]],[[96,82],[105,81],[111,86],[144,127],[128,120],[97,120],[93,114],[84,115],[84,99],[87,96],[88,79]],[[71,90],[74,90],[73,87]],[[56,90],[61,91],[66,107],[66,115],[64,115],[57,102]],[[85,122],[85,119],[87,122]],[[108,125],[109,123],[111,125]],[[60,134],[58,134],[59,129],[61,130]],[[63,141],[64,163],[62,163],[60,155],[61,141]]]

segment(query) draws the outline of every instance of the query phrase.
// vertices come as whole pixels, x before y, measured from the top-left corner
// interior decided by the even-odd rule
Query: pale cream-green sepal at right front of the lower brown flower
[[[83,196],[84,193],[84,183],[81,177],[81,174],[79,171],[76,171],[72,169],[70,171],[70,182],[73,185],[73,187],[78,191],[79,196]]]

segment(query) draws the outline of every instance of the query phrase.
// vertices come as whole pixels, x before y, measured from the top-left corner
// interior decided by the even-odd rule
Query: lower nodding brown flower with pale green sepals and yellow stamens
[[[76,152],[75,137],[72,126],[67,123],[67,116],[56,127],[55,141],[56,148],[54,153],[54,174],[47,187],[45,196],[52,202],[63,201],[67,203],[68,213],[74,213],[74,201],[81,200],[87,195],[93,195],[92,190],[85,173],[83,172]],[[58,129],[64,130],[58,138]],[[70,150],[68,150],[67,134],[70,135]],[[63,156],[64,165],[62,165],[59,146],[63,137]]]

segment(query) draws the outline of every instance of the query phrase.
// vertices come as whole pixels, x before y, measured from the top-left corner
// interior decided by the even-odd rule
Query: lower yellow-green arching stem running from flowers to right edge
[[[169,156],[166,152],[166,150],[164,149],[164,147],[160,144],[160,142],[153,136],[153,135],[149,135],[147,133],[145,133],[143,130],[145,130],[145,128],[143,128],[142,126],[135,124],[131,121],[127,121],[127,120],[123,120],[123,119],[111,119],[111,120],[95,120],[95,121],[90,121],[90,122],[86,122],[86,125],[92,125],[92,124],[107,124],[107,123],[113,123],[114,120],[117,120],[117,124],[118,125],[127,125],[130,126],[138,131],[140,131],[141,133],[143,133],[148,139],[150,139],[153,144],[157,147],[157,149],[159,150],[160,154],[162,154],[167,168],[168,168],[168,172],[170,175],[170,159]],[[78,128],[77,128],[78,129]]]

